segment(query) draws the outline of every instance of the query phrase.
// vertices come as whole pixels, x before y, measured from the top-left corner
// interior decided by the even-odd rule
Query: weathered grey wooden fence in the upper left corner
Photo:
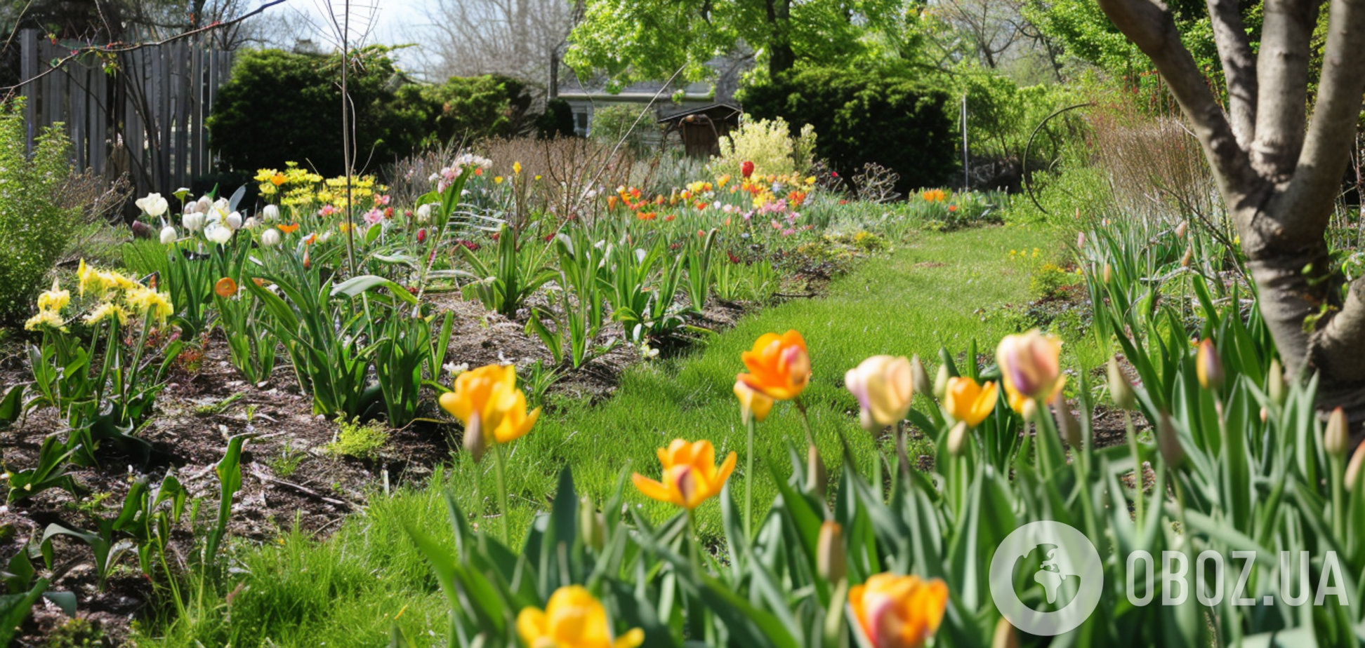
[[[20,33],[23,80],[70,55],[37,30]],[[127,173],[138,195],[169,195],[213,171],[205,119],[232,72],[232,53],[186,38],[121,53],[116,71],[76,60],[23,86],[29,146],[46,126],[64,123],[81,169]]]

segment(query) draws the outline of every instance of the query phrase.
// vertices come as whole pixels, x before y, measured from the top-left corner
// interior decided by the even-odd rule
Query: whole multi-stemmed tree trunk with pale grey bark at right
[[[1267,0],[1253,61],[1235,0],[1207,0],[1228,87],[1215,101],[1159,0],[1099,0],[1156,64],[1198,136],[1291,378],[1319,377],[1319,408],[1365,422],[1365,280],[1342,297],[1325,239],[1365,91],[1365,0],[1331,0],[1317,102],[1308,120],[1317,0]],[[1231,123],[1230,123],[1231,120]]]

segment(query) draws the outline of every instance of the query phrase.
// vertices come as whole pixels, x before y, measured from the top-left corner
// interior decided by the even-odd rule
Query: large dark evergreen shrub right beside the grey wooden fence
[[[352,52],[348,90],[359,164],[393,160],[422,141],[426,104],[403,101],[403,76],[384,46]],[[278,49],[243,52],[218,89],[209,139],[229,169],[254,172],[307,160],[324,176],[345,172],[341,156],[341,59]]]

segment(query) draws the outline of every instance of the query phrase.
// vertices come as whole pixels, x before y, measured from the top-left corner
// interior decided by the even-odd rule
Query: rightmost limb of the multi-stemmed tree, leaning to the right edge
[[[1282,198],[1302,218],[1291,229],[1305,236],[1312,232],[1321,236],[1327,229],[1350,147],[1355,142],[1361,93],[1365,90],[1361,33],[1365,33],[1365,3],[1332,0],[1313,123],[1298,156],[1294,179]]]

